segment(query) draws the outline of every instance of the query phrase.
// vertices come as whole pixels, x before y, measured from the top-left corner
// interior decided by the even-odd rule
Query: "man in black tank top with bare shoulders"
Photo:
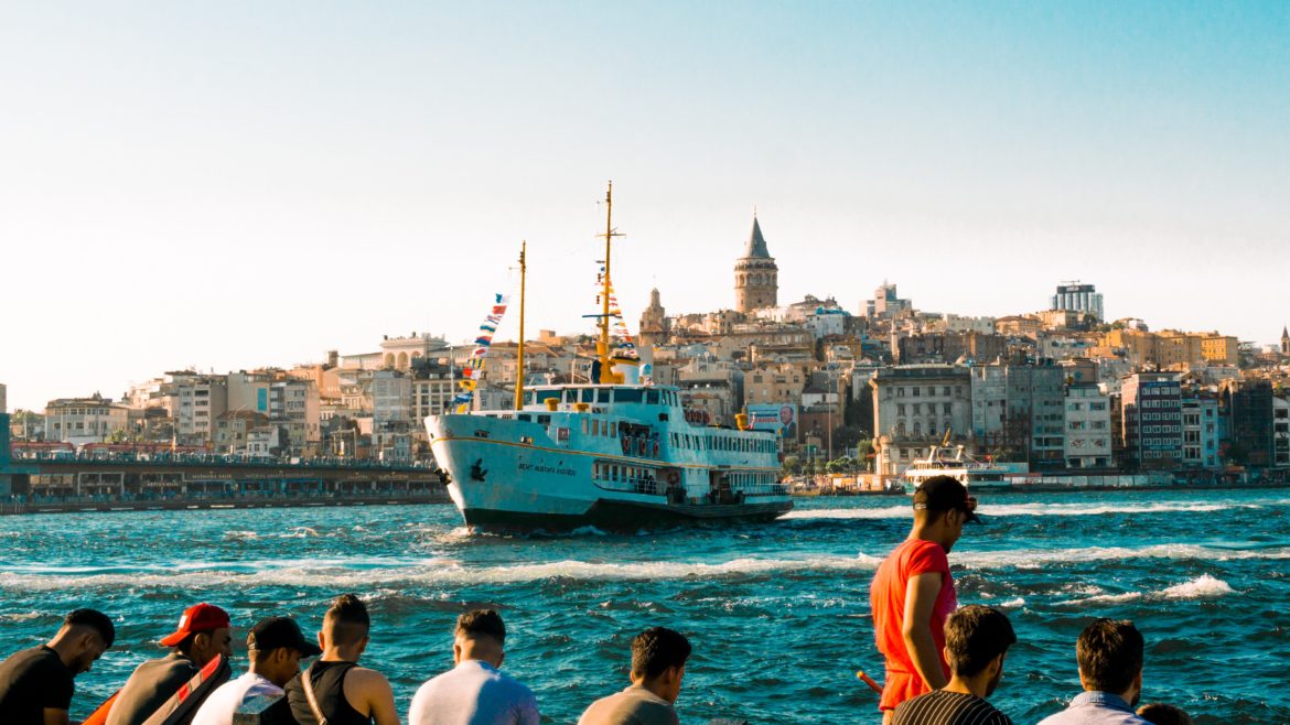
[[[320,657],[286,684],[299,725],[399,725],[395,694],[383,675],[359,667],[372,619],[353,595],[341,595],[322,617]]]

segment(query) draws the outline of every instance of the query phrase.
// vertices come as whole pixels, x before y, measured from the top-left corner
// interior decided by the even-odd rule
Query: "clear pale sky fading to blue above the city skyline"
[[[578,332],[609,178],[633,320],[756,205],[782,302],[1290,321],[1287,3],[10,3],[0,93],[10,408],[461,339],[521,239]]]

